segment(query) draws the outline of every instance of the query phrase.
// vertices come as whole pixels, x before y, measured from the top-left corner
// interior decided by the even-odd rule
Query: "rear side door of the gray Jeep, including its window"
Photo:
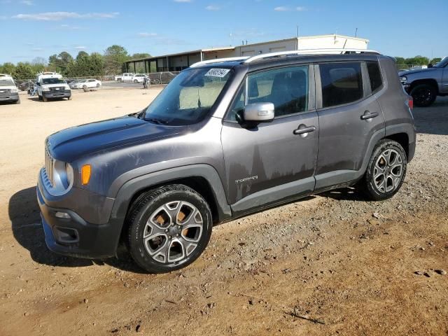
[[[373,69],[375,64],[369,66]],[[381,90],[381,73],[379,81],[372,73],[372,83],[367,73],[365,62],[316,65],[317,192],[356,179],[370,139],[384,133],[384,115],[371,88]]]

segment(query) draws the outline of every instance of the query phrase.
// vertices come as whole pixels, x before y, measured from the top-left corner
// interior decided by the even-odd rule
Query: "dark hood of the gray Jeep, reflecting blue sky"
[[[45,144],[53,158],[73,162],[87,154],[168,137],[179,133],[183,128],[185,127],[155,125],[125,116],[56,132],[47,138]]]

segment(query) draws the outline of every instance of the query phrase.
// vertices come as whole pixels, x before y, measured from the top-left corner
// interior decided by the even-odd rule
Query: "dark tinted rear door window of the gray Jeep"
[[[363,97],[360,62],[319,64],[322,107],[356,102]]]

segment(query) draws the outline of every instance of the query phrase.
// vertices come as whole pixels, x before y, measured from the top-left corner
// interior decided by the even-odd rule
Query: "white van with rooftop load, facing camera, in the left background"
[[[48,102],[48,99],[67,98],[71,100],[71,90],[60,73],[43,72],[36,78],[37,95],[39,100]]]

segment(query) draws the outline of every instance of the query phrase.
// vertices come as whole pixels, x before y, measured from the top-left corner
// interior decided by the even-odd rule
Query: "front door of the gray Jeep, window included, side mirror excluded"
[[[228,201],[235,214],[314,190],[318,116],[310,87],[314,90],[308,65],[251,73],[241,85],[221,134]],[[242,127],[237,114],[257,102],[274,104],[274,120]],[[304,127],[309,132],[302,132]]]

